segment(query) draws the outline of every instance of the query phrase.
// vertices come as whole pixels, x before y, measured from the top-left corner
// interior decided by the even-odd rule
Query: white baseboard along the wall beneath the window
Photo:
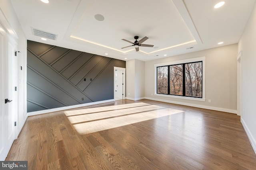
[[[223,111],[223,112],[237,114],[236,110],[225,109],[225,108],[220,108],[220,107],[203,106],[203,105],[198,105],[198,104],[190,104],[190,103],[176,102],[176,101],[171,101],[171,100],[162,100],[162,99],[148,98],[148,97],[145,97],[145,99],[155,100],[155,101],[158,101],[158,102],[166,102],[166,103],[171,103],[171,104],[180,104],[180,105],[184,105],[184,106],[198,107],[198,108],[202,108],[202,109],[209,109],[209,110],[216,110],[216,111]]]

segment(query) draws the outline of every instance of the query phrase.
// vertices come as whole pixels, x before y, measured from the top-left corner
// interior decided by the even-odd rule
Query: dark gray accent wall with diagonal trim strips
[[[125,61],[34,41],[27,48],[28,112],[113,99],[113,68],[126,66]]]

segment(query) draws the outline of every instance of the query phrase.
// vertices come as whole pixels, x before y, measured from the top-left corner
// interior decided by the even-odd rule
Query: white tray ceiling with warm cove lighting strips
[[[149,61],[238,43],[255,0],[11,0],[28,40],[120,60]],[[94,18],[104,16],[103,21]],[[32,28],[57,35],[41,40]],[[139,47],[134,42],[148,37]],[[218,45],[218,42],[224,42]],[[192,49],[188,49],[194,47]],[[106,55],[108,53],[108,55]],[[166,56],[164,56],[166,55]],[[125,59],[127,58],[127,59]]]

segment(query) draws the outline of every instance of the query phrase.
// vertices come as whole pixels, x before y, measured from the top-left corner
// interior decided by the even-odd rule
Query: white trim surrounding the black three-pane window
[[[187,97],[187,96],[175,96],[175,95],[170,95],[170,94],[157,94],[157,89],[156,89],[156,68],[159,66],[167,66],[167,65],[174,65],[174,64],[183,64],[183,63],[192,63],[192,62],[197,62],[197,61],[202,61],[202,98],[193,98],[193,97]],[[155,96],[162,96],[162,97],[169,97],[169,98],[179,98],[179,99],[187,99],[187,100],[197,100],[197,101],[203,101],[205,102],[205,56],[204,57],[196,57],[192,59],[185,59],[185,60],[178,60],[178,61],[172,61],[168,63],[158,63],[154,64],[154,70],[155,70],[155,77],[154,77],[154,95]]]

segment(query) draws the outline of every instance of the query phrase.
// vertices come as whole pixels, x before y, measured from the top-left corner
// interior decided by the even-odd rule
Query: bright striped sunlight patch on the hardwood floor
[[[111,111],[109,109],[114,107],[106,106],[89,108],[90,111],[92,111],[91,114],[89,110],[82,109],[83,113],[82,110],[78,110],[79,114],[75,113],[75,111],[72,111],[71,114],[74,116],[68,116],[68,119],[80,135],[85,135],[88,133],[94,133],[106,129],[112,129],[115,127],[183,112],[182,110],[171,109],[162,106],[144,105],[144,103],[118,105],[118,110]],[[100,112],[95,113],[97,112],[96,110],[100,110]],[[65,111],[65,114],[70,115],[70,113],[66,112],[69,111]]]

